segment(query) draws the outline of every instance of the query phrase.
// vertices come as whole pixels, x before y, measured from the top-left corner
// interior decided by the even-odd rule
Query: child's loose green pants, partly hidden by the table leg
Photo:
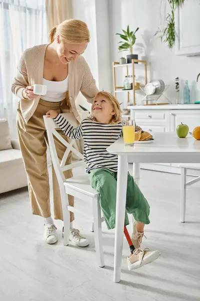
[[[108,229],[115,227],[116,181],[117,173],[107,169],[94,169],[89,173],[91,186],[99,193],[99,203]],[[125,221],[128,225],[127,213],[133,214],[135,221],[149,224],[149,205],[133,178],[128,173]]]

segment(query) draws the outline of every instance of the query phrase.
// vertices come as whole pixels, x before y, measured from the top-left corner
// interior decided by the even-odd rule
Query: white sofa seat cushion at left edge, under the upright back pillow
[[[0,168],[21,164],[21,152],[18,149],[0,150]]]

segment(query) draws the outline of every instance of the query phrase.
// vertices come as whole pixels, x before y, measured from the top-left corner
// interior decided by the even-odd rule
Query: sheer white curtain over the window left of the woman
[[[11,93],[21,53],[47,43],[44,0],[0,0],[0,118],[7,118],[10,135],[16,137],[16,106]]]

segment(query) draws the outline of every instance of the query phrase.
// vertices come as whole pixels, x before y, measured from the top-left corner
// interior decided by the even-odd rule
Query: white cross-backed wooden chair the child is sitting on
[[[88,112],[86,113],[88,114]],[[73,116],[72,113],[64,113],[61,114],[66,117],[67,120],[69,120],[70,124],[76,126],[76,119]],[[82,112],[81,119],[83,119],[85,113]],[[92,211],[93,211],[93,223],[92,223],[92,229],[94,231],[94,242],[95,242],[95,249],[96,249],[96,255],[97,255],[97,261],[98,265],[100,267],[104,266],[104,256],[103,256],[103,248],[102,248],[102,233],[101,233],[101,222],[104,221],[104,218],[101,217],[101,210],[100,205],[98,202],[98,193],[90,186],[89,184],[89,178],[88,175],[81,174],[75,177],[72,177],[70,179],[65,179],[63,176],[63,172],[69,169],[73,169],[75,167],[85,167],[84,161],[83,161],[83,155],[79,153],[74,147],[73,143],[75,140],[71,139],[68,143],[63,139],[63,137],[55,130],[58,126],[51,118],[46,118],[46,116],[43,116],[45,128],[47,131],[47,137],[48,137],[48,143],[49,143],[49,149],[50,149],[50,156],[52,160],[52,164],[55,170],[55,174],[57,177],[57,181],[59,184],[59,190],[61,195],[61,204],[62,204],[62,212],[63,212],[63,222],[64,222],[64,238],[63,243],[64,245],[68,245],[68,236],[69,236],[69,227],[70,227],[70,216],[69,211],[71,212],[78,212],[82,215],[88,216],[84,214],[81,211],[78,211],[72,206],[69,206],[68,204],[68,195],[71,195],[75,198],[78,198],[82,201],[87,199],[87,201],[91,201],[92,203]],[[55,136],[57,139],[60,140],[60,142],[66,146],[65,153],[63,155],[63,158],[61,160],[61,163],[59,163],[54,139],[53,136]],[[70,151],[75,154],[78,158],[80,158],[80,161],[71,163],[69,165],[65,165],[66,159],[70,153]]]

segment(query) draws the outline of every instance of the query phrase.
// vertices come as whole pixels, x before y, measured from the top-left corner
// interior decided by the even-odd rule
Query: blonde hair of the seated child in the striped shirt
[[[112,120],[110,123],[113,124],[121,121],[121,108],[116,97],[109,92],[100,91],[95,95],[94,100],[99,95],[104,96],[113,106],[114,115],[112,116]]]

